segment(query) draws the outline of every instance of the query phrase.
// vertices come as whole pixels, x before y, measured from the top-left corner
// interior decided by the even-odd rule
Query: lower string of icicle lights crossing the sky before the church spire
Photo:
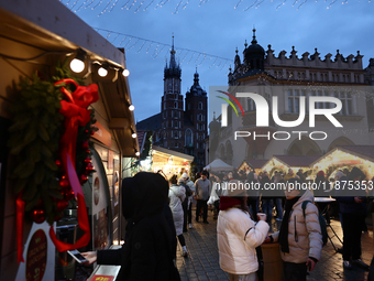
[[[147,40],[147,39],[132,36],[129,34],[123,34],[123,33],[99,29],[99,28],[94,28],[94,29],[98,31],[108,41],[110,41],[111,44],[113,44],[114,41],[123,36],[121,42],[117,45],[120,47],[124,47],[127,51],[131,51],[139,43],[142,43],[141,46],[136,48],[136,52],[135,52],[136,54],[139,54],[144,48],[144,46],[147,45],[145,53],[148,54],[150,50],[152,48],[153,53],[151,54],[151,56],[153,60],[157,58],[161,54],[163,54],[163,52],[165,52],[165,48],[169,50],[172,47],[172,45],[169,44],[164,44],[164,43]],[[113,36],[113,39],[111,39],[111,36]],[[178,47],[176,50],[179,52],[179,57],[183,56],[183,58],[180,60],[180,64],[184,63],[186,60],[188,60],[187,64],[195,62],[197,66],[200,66],[204,62],[207,61],[207,58],[209,58],[209,61],[215,58],[213,63],[209,66],[209,68],[211,68],[212,66],[216,66],[220,68],[220,71],[222,71],[228,64],[232,63],[232,60],[220,57],[217,55],[210,55],[205,52],[194,51],[194,50],[184,48],[184,47]]]

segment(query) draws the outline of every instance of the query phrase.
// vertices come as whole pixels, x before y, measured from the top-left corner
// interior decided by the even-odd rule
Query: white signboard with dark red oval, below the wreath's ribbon
[[[55,227],[55,225],[54,225]],[[55,279],[55,246],[50,236],[50,225],[33,224],[23,248],[15,281],[50,281]]]

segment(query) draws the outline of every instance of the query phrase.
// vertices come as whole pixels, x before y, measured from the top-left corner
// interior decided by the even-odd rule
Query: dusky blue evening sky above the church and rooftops
[[[228,85],[235,48],[242,58],[244,41],[251,44],[253,26],[258,44],[265,51],[271,44],[276,56],[283,50],[289,56],[295,46],[298,57],[305,52],[315,53],[317,47],[322,60],[328,53],[334,57],[337,50],[344,57],[360,51],[364,67],[374,57],[374,3],[369,0],[61,2],[92,28],[100,29],[98,32],[103,36],[111,31],[108,41],[127,48],[130,90],[138,121],[161,110],[164,66],[169,60],[172,34],[182,66],[183,94],[193,85],[196,67],[200,85],[207,91],[209,86]],[[201,55],[204,53],[207,56]]]

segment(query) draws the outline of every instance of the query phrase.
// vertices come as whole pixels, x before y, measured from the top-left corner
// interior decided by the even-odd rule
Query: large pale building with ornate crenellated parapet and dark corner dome
[[[360,52],[345,57],[338,50],[336,55],[321,57],[316,48],[312,54],[305,52],[298,56],[293,46],[289,56],[286,56],[286,51],[275,55],[271,45],[265,51],[257,43],[255,30],[251,44],[245,42],[244,46],[242,58],[239,51],[235,51],[234,67],[230,68],[228,75],[228,91],[235,96],[237,93],[243,93],[243,87],[250,87],[252,93],[265,98],[268,105],[268,126],[256,126],[256,104],[253,99],[238,97],[243,114],[239,109],[237,114],[228,106],[226,126],[222,126],[222,116],[209,123],[209,161],[219,158],[239,166],[244,160],[268,160],[273,155],[323,155],[337,145],[374,143],[374,58],[369,60],[364,68]],[[315,127],[310,127],[308,100],[312,96],[341,100],[342,109],[333,117],[342,127],[334,127],[322,115],[316,116]],[[283,121],[298,119],[300,98],[305,97],[304,121],[297,128],[280,127],[273,119],[273,97],[277,98],[276,114]],[[234,104],[233,99],[231,101]],[[333,108],[331,104],[316,101],[315,108]],[[243,132],[245,137],[235,138],[237,131]],[[326,132],[328,137],[316,140],[321,139],[321,134],[316,133],[310,138],[314,131]],[[254,134],[263,137],[253,138]]]

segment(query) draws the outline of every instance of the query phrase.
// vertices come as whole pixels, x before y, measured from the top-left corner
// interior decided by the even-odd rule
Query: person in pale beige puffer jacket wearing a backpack
[[[270,235],[265,242],[278,241],[287,281],[304,281],[321,258],[322,234],[319,210],[309,190],[297,188],[298,179],[286,182],[285,214],[280,230]],[[307,202],[307,203],[304,203]],[[302,205],[305,204],[305,210]]]

